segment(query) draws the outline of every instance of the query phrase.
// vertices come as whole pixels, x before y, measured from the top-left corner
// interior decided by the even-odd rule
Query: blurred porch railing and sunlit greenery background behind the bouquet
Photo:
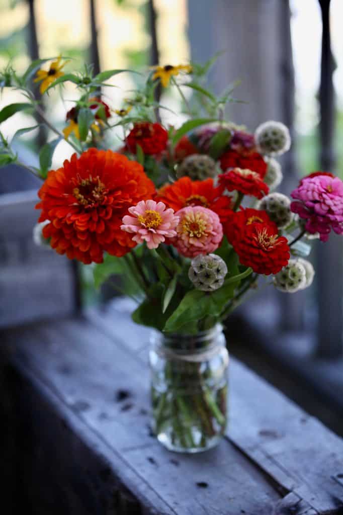
[[[11,60],[19,73],[33,59],[59,54],[71,58],[66,71],[82,70],[87,62],[93,63],[97,73],[111,68],[144,70],[158,63],[203,63],[222,50],[210,82],[219,92],[241,80],[234,96],[247,102],[231,104],[227,118],[251,131],[267,119],[276,119],[293,134],[293,146],[282,162],[283,193],[289,194],[299,177],[315,170],[332,171],[343,178],[341,0],[0,0],[0,11],[0,68]],[[125,91],[134,88],[135,80],[131,74],[111,79],[116,87],[104,88],[105,101],[120,109]],[[190,90],[184,93],[190,95]],[[66,83],[63,98],[55,90],[44,98],[44,109],[58,127],[64,126],[65,113],[77,97],[74,85]],[[4,88],[0,109],[17,101],[21,95]],[[162,104],[177,110],[177,95],[167,90]],[[181,117],[165,113],[163,123],[182,123]],[[10,139],[19,128],[34,124],[29,115],[17,113],[1,130]],[[39,148],[51,138],[38,129],[23,136],[15,148],[21,161],[35,165]],[[109,144],[119,145],[115,134]],[[61,142],[53,167],[70,153]],[[35,178],[18,167],[2,170],[0,229],[6,225],[13,202],[33,205],[37,187]],[[33,211],[31,215],[37,217]],[[42,258],[44,251],[33,249],[29,243],[33,221],[18,221],[20,233],[0,234],[3,327],[63,311],[68,304],[61,302],[62,290],[70,284],[77,308],[108,298],[108,292],[95,291],[90,267],[80,269],[63,261],[73,281],[61,279],[58,302],[55,298],[41,306],[37,282],[45,290],[46,283],[38,262],[54,259],[59,273],[61,258],[56,256],[58,262],[46,254]],[[316,280],[311,288],[296,295],[266,288],[227,324],[234,354],[340,434],[342,256],[342,243],[335,235],[325,246],[314,242],[310,259]],[[30,288],[36,291],[33,304]],[[35,309],[27,309],[28,299]]]

